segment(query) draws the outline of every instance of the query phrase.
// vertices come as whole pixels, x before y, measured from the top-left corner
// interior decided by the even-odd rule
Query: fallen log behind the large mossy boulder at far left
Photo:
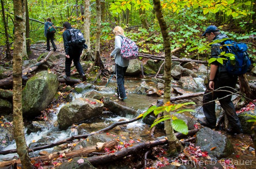
[[[47,56],[42,61],[22,70],[22,80],[26,81],[28,79],[27,76],[29,76],[29,74],[32,71],[36,70],[38,68],[38,66],[43,65],[45,62],[47,62],[47,59],[49,59],[49,57],[52,55],[52,53],[53,53],[53,51],[50,51],[49,54],[47,54]],[[8,78],[0,80],[0,87],[11,88],[12,83],[13,83],[13,76],[10,76]]]

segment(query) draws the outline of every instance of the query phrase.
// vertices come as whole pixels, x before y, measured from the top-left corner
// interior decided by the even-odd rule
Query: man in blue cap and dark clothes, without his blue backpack
[[[207,37],[209,42],[213,40],[228,38],[226,34],[221,34],[218,28],[214,25],[210,25],[202,35]],[[226,51],[226,47],[219,48],[221,43],[214,43],[211,45],[211,57],[220,58],[221,52]],[[230,130],[227,131],[230,134],[239,134],[242,132],[241,124],[238,116],[236,115],[236,109],[233,102],[231,101],[231,93],[224,91],[214,91],[220,87],[232,87],[235,88],[238,76],[231,75],[227,73],[225,68],[225,60],[223,65],[215,61],[211,63],[210,77],[207,89],[203,97],[203,110],[205,115],[205,120],[198,119],[198,122],[206,127],[215,128],[216,127],[216,115],[215,115],[215,101],[217,98],[224,109],[227,119],[229,121]],[[221,88],[220,90],[228,90],[233,92],[230,88]],[[230,95],[230,96],[228,96]],[[212,101],[212,102],[210,102]],[[208,103],[210,102],[210,103]]]

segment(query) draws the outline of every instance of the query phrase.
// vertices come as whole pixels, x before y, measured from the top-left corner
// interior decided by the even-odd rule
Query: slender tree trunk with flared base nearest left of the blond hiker
[[[99,67],[99,69],[103,70],[104,65],[102,63],[102,60],[100,58],[100,53],[99,53],[99,42],[100,42],[100,33],[101,33],[101,17],[100,17],[101,14],[100,13],[101,13],[100,0],[96,0],[97,30],[96,30],[96,42],[95,42],[94,66],[97,66]]]

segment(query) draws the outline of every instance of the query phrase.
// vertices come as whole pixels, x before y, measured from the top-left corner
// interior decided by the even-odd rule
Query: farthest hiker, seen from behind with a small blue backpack
[[[46,50],[50,51],[50,40],[52,43],[52,48],[53,51],[56,51],[57,47],[54,43],[54,34],[56,32],[56,28],[52,23],[52,19],[51,18],[47,18],[47,22],[44,23],[44,36],[46,37]]]

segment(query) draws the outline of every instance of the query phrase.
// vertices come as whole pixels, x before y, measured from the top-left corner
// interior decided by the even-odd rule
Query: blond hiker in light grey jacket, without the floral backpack
[[[120,54],[121,45],[123,42],[122,37],[125,37],[124,30],[120,26],[116,26],[113,29],[113,33],[116,35],[115,37],[115,49],[110,54],[110,57],[115,57],[115,73],[116,73],[116,81],[117,81],[117,93],[116,96],[119,96],[120,100],[127,99],[125,93],[125,72],[129,65],[129,60],[125,60],[122,58]]]

